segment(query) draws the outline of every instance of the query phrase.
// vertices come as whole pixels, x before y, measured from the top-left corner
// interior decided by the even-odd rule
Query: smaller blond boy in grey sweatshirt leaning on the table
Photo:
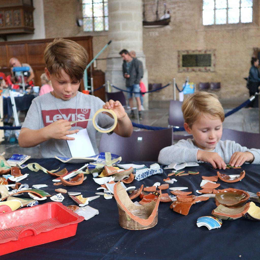
[[[235,141],[222,141],[224,109],[215,94],[197,92],[182,105],[185,130],[193,139],[180,140],[163,148],[158,162],[169,165],[183,162],[209,162],[213,168],[241,166],[244,162],[260,163],[260,149],[248,149]]]

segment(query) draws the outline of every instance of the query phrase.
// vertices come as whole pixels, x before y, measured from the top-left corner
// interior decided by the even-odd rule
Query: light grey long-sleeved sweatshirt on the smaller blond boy
[[[199,162],[197,160],[197,152],[200,148],[195,144],[194,139],[180,140],[177,144],[161,149],[158,162],[163,165],[169,165],[172,162],[181,164],[184,162]],[[200,149],[204,151],[203,149]],[[235,152],[250,152],[255,159],[253,164],[260,164],[260,149],[248,149],[245,146],[237,144],[235,141],[220,140],[215,149],[210,152],[216,152],[227,164]]]

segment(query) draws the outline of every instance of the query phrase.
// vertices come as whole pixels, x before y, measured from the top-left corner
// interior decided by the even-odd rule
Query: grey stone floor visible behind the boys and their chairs
[[[242,103],[242,102],[240,102]],[[234,103],[235,104],[235,103]],[[239,105],[235,104],[235,106]],[[225,113],[230,111],[230,106],[223,104]],[[141,124],[149,126],[168,126],[168,109],[167,108],[150,108],[142,112]],[[137,120],[133,120],[137,122]],[[223,123],[224,128],[235,129],[239,131],[259,133],[259,110],[258,108],[242,108],[233,115],[227,117]],[[97,143],[99,144],[100,133],[97,133]],[[39,146],[32,148],[21,148],[18,143],[8,141],[0,144],[0,153],[5,152],[5,157],[9,158],[14,153],[31,155],[33,158],[40,158]]]

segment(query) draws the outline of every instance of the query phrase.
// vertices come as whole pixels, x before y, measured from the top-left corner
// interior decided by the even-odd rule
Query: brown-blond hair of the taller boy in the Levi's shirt
[[[80,81],[87,67],[88,54],[74,41],[55,38],[44,50],[44,61],[50,74],[60,77],[63,69],[72,80]]]

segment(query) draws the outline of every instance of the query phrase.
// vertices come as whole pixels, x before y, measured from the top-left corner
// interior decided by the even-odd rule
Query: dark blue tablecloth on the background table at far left
[[[35,96],[33,94],[24,95],[22,97],[15,97],[17,111],[28,110],[34,98]],[[4,115],[8,115],[8,118],[10,118],[13,114],[10,97],[4,98],[3,107]]]

